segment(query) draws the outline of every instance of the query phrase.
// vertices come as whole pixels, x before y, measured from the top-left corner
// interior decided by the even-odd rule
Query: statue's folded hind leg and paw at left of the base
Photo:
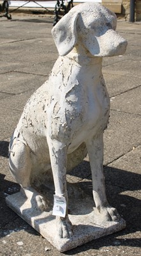
[[[15,180],[20,184],[20,191],[26,198],[31,200],[31,195],[36,192],[31,188],[31,158],[29,155],[29,147],[22,141],[15,138],[10,148],[9,167],[10,172]],[[36,193],[35,193],[36,195]],[[45,211],[48,207],[48,202],[41,195],[36,195],[35,207]]]

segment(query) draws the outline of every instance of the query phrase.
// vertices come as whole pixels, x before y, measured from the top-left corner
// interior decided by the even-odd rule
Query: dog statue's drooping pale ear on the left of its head
[[[68,12],[52,29],[52,37],[61,56],[68,54],[77,44],[78,15],[77,12]]]

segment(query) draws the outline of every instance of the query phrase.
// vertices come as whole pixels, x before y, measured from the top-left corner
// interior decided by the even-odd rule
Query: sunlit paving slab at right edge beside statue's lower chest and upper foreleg
[[[104,132],[104,164],[108,164],[140,145],[141,117],[110,111],[110,121]]]

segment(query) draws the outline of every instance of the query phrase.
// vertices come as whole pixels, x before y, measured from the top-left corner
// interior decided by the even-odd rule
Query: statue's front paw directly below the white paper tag
[[[68,217],[58,217],[56,216],[57,225],[57,236],[60,238],[70,238],[73,235],[72,224]]]

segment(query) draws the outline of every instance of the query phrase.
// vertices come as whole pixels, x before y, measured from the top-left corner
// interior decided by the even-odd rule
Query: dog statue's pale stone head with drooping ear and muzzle
[[[98,3],[73,7],[52,29],[59,55],[65,56],[73,47],[82,45],[93,56],[121,55],[127,42],[117,32],[116,16]]]

